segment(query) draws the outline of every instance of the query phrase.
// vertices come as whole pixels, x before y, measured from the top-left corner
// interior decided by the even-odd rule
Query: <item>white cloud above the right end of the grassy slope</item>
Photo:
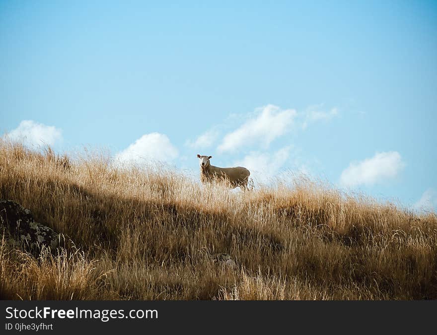
[[[372,158],[352,162],[343,170],[340,184],[346,187],[373,185],[388,178],[394,178],[404,167],[397,151],[377,152]]]

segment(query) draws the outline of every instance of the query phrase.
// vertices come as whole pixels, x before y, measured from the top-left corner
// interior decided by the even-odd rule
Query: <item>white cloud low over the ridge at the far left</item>
[[[8,133],[12,141],[22,141],[26,146],[51,145],[62,140],[62,132],[54,126],[46,126],[32,120],[21,121],[17,128]]]

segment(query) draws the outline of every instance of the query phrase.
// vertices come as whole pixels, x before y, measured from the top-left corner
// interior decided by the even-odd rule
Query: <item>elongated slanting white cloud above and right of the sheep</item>
[[[296,116],[293,109],[281,110],[278,106],[267,105],[255,110],[256,116],[251,118],[237,130],[224,136],[219,152],[235,152],[241,146],[255,143],[267,148],[277,137],[285,134]]]

